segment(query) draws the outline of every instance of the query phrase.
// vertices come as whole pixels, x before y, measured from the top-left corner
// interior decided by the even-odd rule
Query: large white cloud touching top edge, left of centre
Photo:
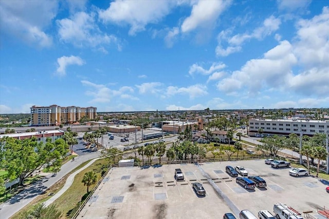
[[[106,10],[99,10],[99,17],[104,22],[129,24],[129,34],[143,31],[149,23],[156,24],[171,12],[174,1],[116,1],[111,2]]]

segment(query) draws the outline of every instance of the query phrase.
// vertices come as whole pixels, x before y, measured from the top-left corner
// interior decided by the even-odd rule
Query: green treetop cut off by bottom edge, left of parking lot
[[[43,204],[38,204],[24,214],[27,219],[59,219],[62,217],[62,212],[57,209],[57,205],[49,205],[45,207]]]

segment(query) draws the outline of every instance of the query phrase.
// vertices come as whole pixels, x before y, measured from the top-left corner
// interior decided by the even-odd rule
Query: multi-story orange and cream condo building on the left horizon
[[[60,107],[51,105],[48,107],[32,106],[31,126],[56,126],[59,124],[71,124],[80,120],[83,116],[94,119],[97,116],[96,107]]]

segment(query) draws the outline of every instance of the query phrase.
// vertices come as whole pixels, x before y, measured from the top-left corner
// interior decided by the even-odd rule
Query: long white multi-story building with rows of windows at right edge
[[[315,133],[326,133],[329,131],[329,121],[324,120],[249,120],[249,135],[259,135],[262,129],[264,134],[289,135],[295,133],[299,135],[313,136]]]

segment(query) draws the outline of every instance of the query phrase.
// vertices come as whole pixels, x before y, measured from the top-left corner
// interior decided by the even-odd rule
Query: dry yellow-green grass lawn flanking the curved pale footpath
[[[70,218],[71,215],[75,213],[75,211],[79,208],[79,201],[83,198],[85,198],[87,187],[83,186],[83,183],[81,183],[84,173],[88,171],[95,171],[98,176],[97,182],[101,178],[101,172],[104,169],[107,169],[107,160],[106,159],[99,159],[95,161],[92,165],[87,167],[86,169],[82,170],[79,174],[76,175],[74,182],[70,186],[70,188],[64,192],[63,195],[61,195],[53,204],[57,205],[57,209],[63,212],[62,218]],[[51,192],[58,192],[65,184],[67,177],[75,172],[76,170],[80,169],[81,167],[85,166],[89,161],[81,164],[74,170],[72,170],[70,173],[65,175],[59,182],[51,186],[46,194],[39,195],[35,200],[33,200],[30,204],[25,206],[22,210],[14,214],[11,218],[24,218],[23,215],[25,212],[31,210],[36,204],[45,202],[48,200],[51,196],[48,196]],[[92,191],[95,185],[89,187],[89,191]],[[71,215],[70,215],[71,214]]]

